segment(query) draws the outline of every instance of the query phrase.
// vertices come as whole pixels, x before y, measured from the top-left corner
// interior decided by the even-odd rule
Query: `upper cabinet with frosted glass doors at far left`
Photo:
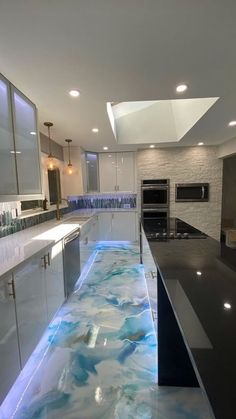
[[[39,198],[40,174],[36,107],[0,75],[0,200]]]

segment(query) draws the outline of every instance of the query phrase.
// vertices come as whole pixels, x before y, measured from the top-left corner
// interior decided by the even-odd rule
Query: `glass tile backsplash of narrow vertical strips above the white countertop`
[[[69,201],[69,207],[60,209],[62,214],[67,214],[78,209],[136,208],[136,194],[71,196],[69,197]],[[44,211],[40,214],[18,218],[20,212],[19,202],[0,204],[0,238],[56,218],[56,211]]]

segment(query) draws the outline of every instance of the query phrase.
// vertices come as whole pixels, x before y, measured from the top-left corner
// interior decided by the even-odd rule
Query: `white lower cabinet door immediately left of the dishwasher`
[[[45,257],[47,263],[49,263],[44,273],[47,316],[48,322],[50,322],[65,300],[62,242],[55,244]]]

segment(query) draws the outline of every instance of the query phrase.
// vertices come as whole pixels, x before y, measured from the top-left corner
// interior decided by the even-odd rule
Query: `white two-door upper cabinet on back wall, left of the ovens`
[[[134,153],[100,153],[99,177],[100,192],[134,192]]]

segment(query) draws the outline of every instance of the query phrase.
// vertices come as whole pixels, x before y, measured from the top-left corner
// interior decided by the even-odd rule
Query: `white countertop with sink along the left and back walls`
[[[92,217],[99,212],[137,211],[136,208],[81,209],[63,216],[61,220],[50,220],[0,239],[0,279],[37,253],[46,250],[67,234],[81,227],[88,220],[78,217]],[[73,222],[69,220],[73,218]]]

